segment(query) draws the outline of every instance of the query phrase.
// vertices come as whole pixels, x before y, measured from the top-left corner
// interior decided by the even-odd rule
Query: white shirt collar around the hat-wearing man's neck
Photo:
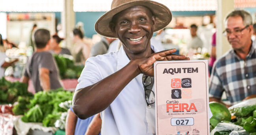
[[[159,49],[156,46],[153,46],[152,44],[151,44],[151,49],[154,52],[159,52]],[[124,52],[123,46],[121,46],[117,54],[117,70],[120,70],[121,68],[126,66],[129,62],[130,62],[130,59]]]

